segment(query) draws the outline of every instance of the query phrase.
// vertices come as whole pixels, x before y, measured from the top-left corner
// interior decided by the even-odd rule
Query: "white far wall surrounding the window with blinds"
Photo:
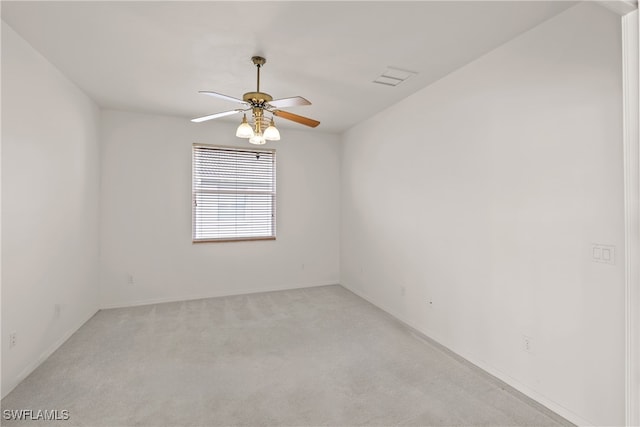
[[[275,241],[191,243],[191,145],[251,146],[236,127],[103,111],[103,307],[338,283],[340,149],[318,129],[283,128],[268,145]]]

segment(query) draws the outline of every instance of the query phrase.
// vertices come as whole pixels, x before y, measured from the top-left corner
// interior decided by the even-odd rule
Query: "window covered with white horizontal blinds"
[[[193,241],[276,237],[276,153],[193,145]]]

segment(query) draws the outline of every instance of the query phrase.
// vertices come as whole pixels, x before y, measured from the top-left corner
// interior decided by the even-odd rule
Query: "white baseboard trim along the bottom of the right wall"
[[[456,359],[462,361],[463,363],[468,363],[468,364],[470,364],[472,366],[475,366],[476,368],[481,369],[482,371],[486,372],[491,377],[495,378],[497,381],[499,381],[501,383],[504,383],[506,386],[514,389],[515,391],[521,393],[525,397],[531,399],[533,401],[533,403],[539,405],[542,410],[546,410],[545,412],[548,411],[549,416],[551,416],[551,417],[553,417],[553,415],[560,416],[560,417],[564,418],[565,420],[567,420],[567,421],[569,421],[569,422],[571,422],[571,423],[573,423],[573,424],[575,424],[577,426],[595,426],[595,425],[597,425],[596,423],[588,421],[585,418],[581,417],[580,415],[574,413],[570,409],[565,408],[564,406],[562,406],[561,404],[553,401],[552,399],[549,399],[544,394],[542,394],[542,393],[532,389],[531,387],[519,382],[517,379],[509,376],[508,374],[505,374],[504,372],[500,371],[499,369],[496,369],[495,367],[493,367],[490,364],[484,362],[483,360],[475,357],[474,355],[466,353],[466,352],[463,352],[463,351],[458,351],[456,349],[449,348],[449,347],[443,345],[441,343],[441,340],[438,339],[437,336],[434,336],[432,333],[429,333],[428,331],[420,330],[417,327],[417,325],[412,324],[409,320],[403,318],[403,316],[398,315],[397,313],[394,313],[393,310],[391,310],[385,304],[376,301],[374,298],[372,298],[366,292],[364,292],[362,290],[359,290],[359,289],[354,289],[354,288],[349,287],[349,286],[344,285],[344,284],[340,284],[340,286],[342,286],[343,288],[345,288],[346,290],[348,290],[350,292],[353,292],[355,295],[359,296],[360,298],[364,299],[365,301],[369,302],[370,304],[372,304],[372,305],[376,306],[377,308],[381,309],[382,311],[386,312],[393,319],[395,319],[396,321],[402,323],[404,326],[409,328],[419,338],[422,338],[422,339],[428,341],[429,343],[434,344],[439,349],[445,351],[446,353],[448,353],[451,356],[455,357]]]

